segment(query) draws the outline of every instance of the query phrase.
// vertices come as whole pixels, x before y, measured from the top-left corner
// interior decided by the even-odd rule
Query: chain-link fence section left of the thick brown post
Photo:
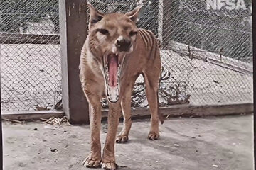
[[[58,0],[0,2],[3,111],[53,108],[61,81]]]

